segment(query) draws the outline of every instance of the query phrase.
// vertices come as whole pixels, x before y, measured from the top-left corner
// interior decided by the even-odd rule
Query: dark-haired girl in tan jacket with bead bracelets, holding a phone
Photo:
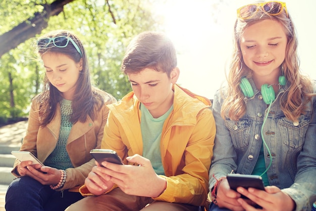
[[[20,151],[44,166],[16,160],[18,177],[7,191],[6,210],[65,210],[81,199],[78,188],[95,165],[109,109],[116,99],[91,86],[86,52],[69,31],[52,31],[37,41],[46,70],[43,92],[32,100]],[[78,187],[78,188],[77,188]]]

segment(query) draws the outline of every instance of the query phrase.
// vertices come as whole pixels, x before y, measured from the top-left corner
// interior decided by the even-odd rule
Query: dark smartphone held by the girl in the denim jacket
[[[262,182],[262,178],[258,175],[228,174],[227,181],[230,188],[235,191],[237,191],[237,187],[265,190],[264,182]],[[241,197],[247,198],[244,195],[241,195]]]

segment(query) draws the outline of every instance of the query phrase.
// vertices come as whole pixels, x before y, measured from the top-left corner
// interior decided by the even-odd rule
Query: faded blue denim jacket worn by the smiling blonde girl
[[[269,105],[262,99],[253,80],[249,79],[249,82],[255,94],[245,99],[247,110],[239,121],[221,117],[223,90],[217,91],[214,97],[217,133],[209,190],[216,182],[214,177],[225,177],[232,170],[238,174],[251,174],[259,156],[261,126]],[[315,92],[315,82],[312,82]],[[280,107],[281,97],[287,98],[286,88],[280,89],[271,104],[262,130],[272,155],[268,179],[270,185],[279,187],[295,201],[296,210],[311,210],[311,204],[316,200],[316,97],[307,104],[305,114],[293,122],[285,117]],[[265,146],[264,154],[268,167],[270,156]]]

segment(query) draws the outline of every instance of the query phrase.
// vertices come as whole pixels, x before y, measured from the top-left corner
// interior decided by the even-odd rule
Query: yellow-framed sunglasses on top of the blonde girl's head
[[[280,15],[284,9],[287,17],[289,17],[285,3],[277,1],[245,5],[237,9],[237,17],[240,19],[248,19],[253,16],[259,8],[273,16]]]

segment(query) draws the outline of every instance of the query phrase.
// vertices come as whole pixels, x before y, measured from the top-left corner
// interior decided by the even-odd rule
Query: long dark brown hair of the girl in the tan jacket
[[[72,114],[70,121],[72,123],[77,121],[84,122],[88,115],[93,120],[95,118],[94,109],[100,109],[104,102],[110,100],[110,95],[91,86],[90,71],[85,49],[79,38],[74,33],[67,30],[51,31],[39,37],[38,40],[41,38],[57,36],[68,36],[73,39],[78,45],[82,56],[71,44],[71,42],[69,42],[65,48],[58,48],[53,44],[49,44],[45,48],[38,48],[36,46],[36,50],[39,56],[42,56],[47,52],[54,52],[67,55],[76,63],[78,63],[81,59],[83,60],[83,69],[79,74],[74,98],[72,100]],[[57,105],[62,100],[62,95],[56,87],[51,85],[45,74],[42,93],[37,95],[33,100],[37,100],[40,103],[38,111],[40,124],[41,126],[45,126],[55,117]]]

